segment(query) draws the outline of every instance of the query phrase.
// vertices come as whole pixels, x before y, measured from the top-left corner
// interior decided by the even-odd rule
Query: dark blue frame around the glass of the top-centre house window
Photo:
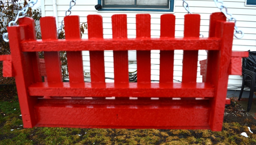
[[[146,12],[174,12],[174,0],[168,0],[169,6],[168,8],[164,8],[166,6],[159,6],[160,8],[156,8],[156,6],[146,5],[146,6],[137,6],[129,7],[129,5],[120,5],[122,8],[117,7],[113,8],[111,5],[108,7],[103,6],[103,0],[98,0],[98,4],[102,5],[102,8],[98,11],[146,11]],[[147,8],[146,8],[147,7]],[[161,8],[162,7],[162,8]]]

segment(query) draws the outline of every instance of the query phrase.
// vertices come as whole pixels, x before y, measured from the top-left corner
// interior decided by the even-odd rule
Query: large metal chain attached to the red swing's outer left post
[[[27,3],[27,6],[26,6],[26,7],[24,7],[22,10],[18,11],[15,20],[14,20],[14,21],[10,21],[10,22],[8,23],[8,26],[10,27],[10,26],[17,25],[17,21],[19,20],[19,18],[25,17],[26,14],[27,14],[28,9],[29,9],[30,7],[33,7],[36,3],[37,3],[37,0],[35,0],[35,1],[33,1],[33,0],[29,1],[29,2]],[[9,42],[9,38],[8,38],[8,33],[7,33],[7,32],[3,34],[3,40],[4,40],[5,42]]]

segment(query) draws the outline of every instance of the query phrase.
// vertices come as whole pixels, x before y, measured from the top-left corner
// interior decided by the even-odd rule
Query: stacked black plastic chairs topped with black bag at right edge
[[[247,105],[247,112],[249,112],[251,110],[253,93],[256,90],[256,86],[255,86],[256,51],[249,50],[249,57],[243,58],[242,75],[243,75],[242,88],[241,88],[238,100],[240,100],[242,97],[244,86],[249,87],[250,95],[249,95],[249,101]]]

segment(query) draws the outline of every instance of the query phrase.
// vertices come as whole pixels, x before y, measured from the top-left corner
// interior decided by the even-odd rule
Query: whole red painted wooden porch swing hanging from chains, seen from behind
[[[3,76],[15,77],[24,127],[221,131],[230,103],[228,76],[241,75],[241,58],[248,56],[231,50],[234,23],[213,13],[209,38],[199,38],[200,15],[187,14],[184,37],[174,38],[175,16],[163,14],[160,38],[151,38],[150,19],[149,14],[136,15],[134,39],[127,38],[124,14],[112,16],[113,39],[103,39],[99,15],[87,16],[88,39],[80,39],[78,16],[64,18],[66,39],[57,39],[54,17],[41,18],[42,40],[36,40],[31,18],[8,27],[11,55],[0,60]],[[91,82],[84,82],[82,50],[90,52]],[[114,83],[105,83],[104,50],[113,50]],[[137,51],[136,83],[129,82],[127,50]],[[151,83],[151,50],[160,50],[159,83]],[[174,50],[183,50],[182,83],[172,80]],[[198,50],[208,51],[200,62],[201,83],[196,82]],[[44,51],[43,60],[39,51]],[[59,51],[67,51],[69,82],[62,80]]]

